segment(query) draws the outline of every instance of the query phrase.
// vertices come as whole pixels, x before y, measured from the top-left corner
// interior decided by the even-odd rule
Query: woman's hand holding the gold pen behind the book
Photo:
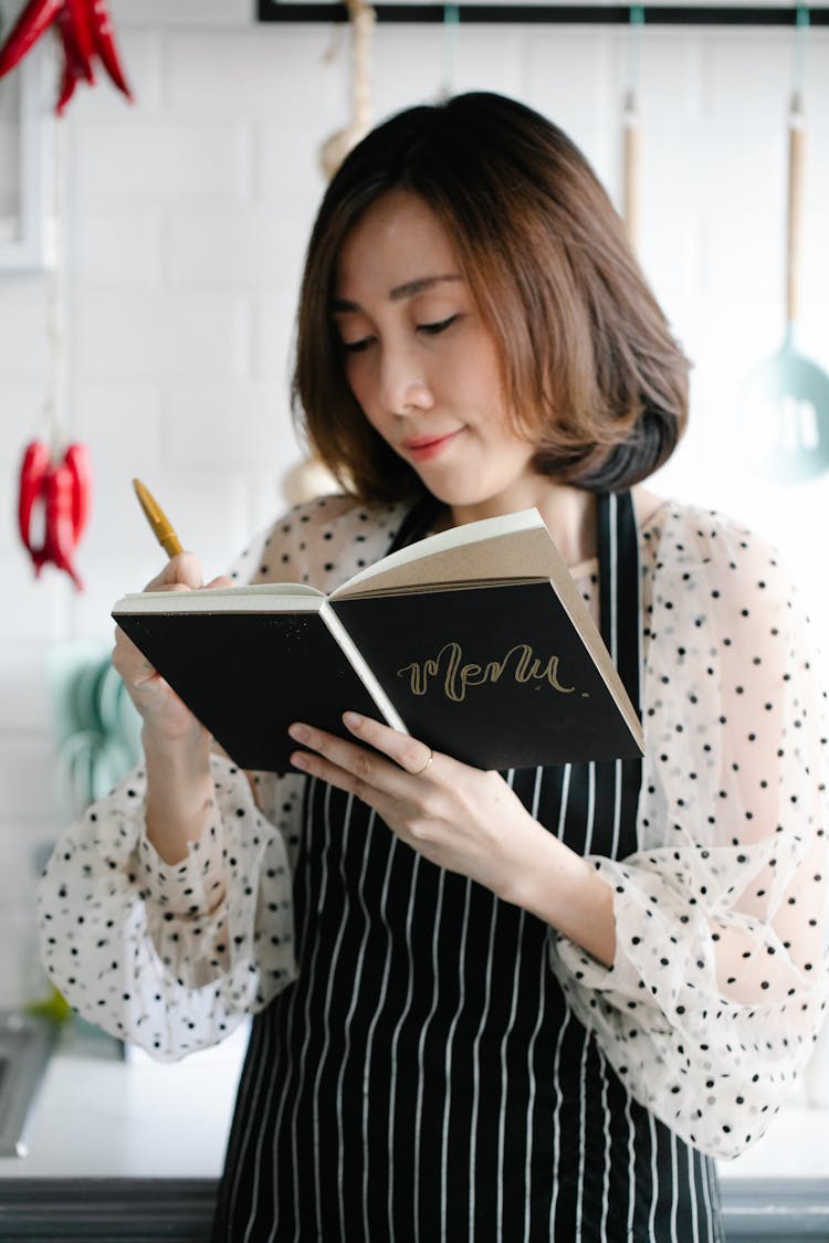
[[[210,583],[203,583],[198,557],[191,552],[181,552],[167,562],[160,574],[157,574],[144,590],[188,592],[198,590],[203,585],[231,587],[232,582],[222,576]],[[185,707],[121,626],[116,626],[112,663],[143,718],[144,731],[149,730],[159,742],[179,740],[194,742],[205,732],[193,712]]]

